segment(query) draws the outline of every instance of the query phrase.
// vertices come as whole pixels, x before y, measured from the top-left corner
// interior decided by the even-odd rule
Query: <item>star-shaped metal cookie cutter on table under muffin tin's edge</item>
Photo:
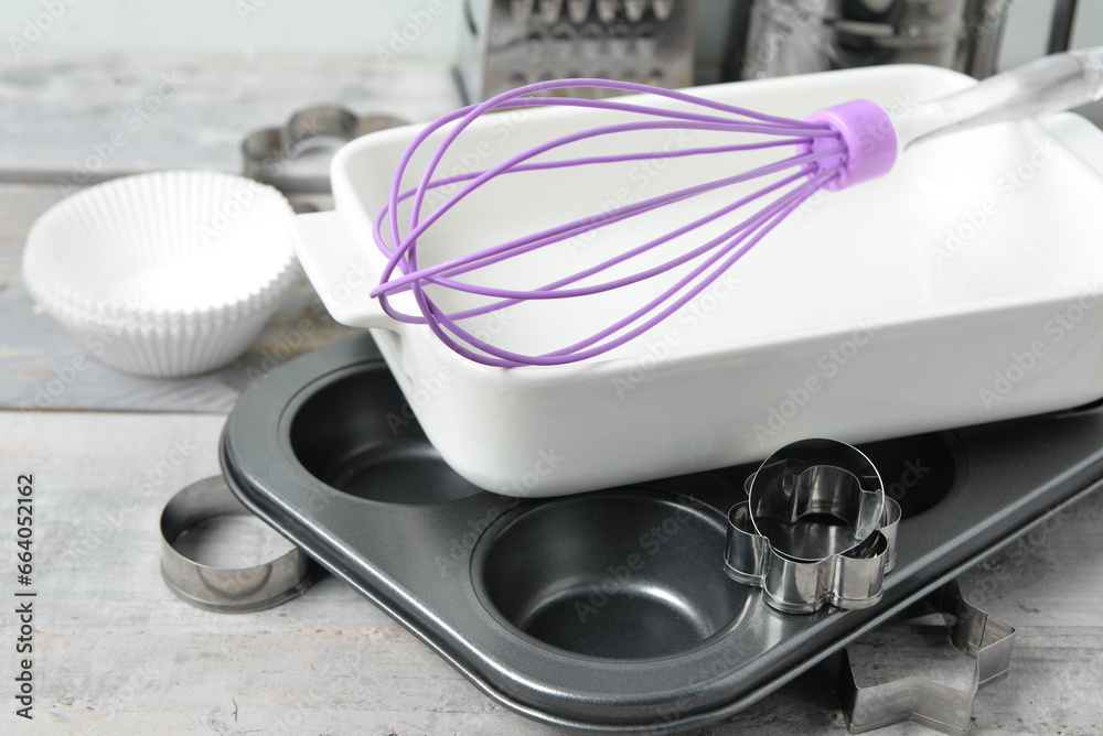
[[[896,620],[929,614],[942,614],[953,646],[976,660],[972,686],[957,690],[912,677],[860,688],[844,649],[812,674],[838,695],[852,734],[909,719],[944,733],[966,734],[977,691],[1007,677],[1015,627],[965,600],[956,581],[909,607]]]

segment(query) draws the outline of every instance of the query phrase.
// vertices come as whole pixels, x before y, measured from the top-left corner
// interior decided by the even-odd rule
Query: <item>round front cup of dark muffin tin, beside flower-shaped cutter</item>
[[[640,660],[706,646],[757,596],[715,564],[724,528],[692,498],[642,489],[517,509],[476,544],[483,605],[537,646]]]

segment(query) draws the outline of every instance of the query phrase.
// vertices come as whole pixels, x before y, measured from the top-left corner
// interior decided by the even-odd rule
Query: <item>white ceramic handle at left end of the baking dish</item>
[[[307,278],[334,320],[350,327],[396,331],[398,323],[372,299],[379,282],[378,259],[364,252],[336,212],[298,215],[291,241]]]

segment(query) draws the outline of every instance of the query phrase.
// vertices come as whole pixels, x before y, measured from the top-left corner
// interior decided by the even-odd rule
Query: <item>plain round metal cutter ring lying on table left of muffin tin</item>
[[[161,512],[161,576],[176,597],[205,610],[247,614],[278,606],[306,592],[322,569],[302,550],[249,567],[213,567],[181,554],[174,546],[189,529],[215,517],[249,510],[231,493],[222,476],[193,483]]]

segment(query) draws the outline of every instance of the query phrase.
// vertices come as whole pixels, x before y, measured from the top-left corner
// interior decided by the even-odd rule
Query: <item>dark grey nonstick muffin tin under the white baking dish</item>
[[[222,462],[246,506],[489,696],[560,726],[661,733],[746,707],[1093,490],[1101,447],[1093,408],[863,445],[903,511],[896,566],[876,606],[810,615],[725,574],[726,513],[753,466],[550,499],[480,490],[426,440],[367,334],[247,391]],[[566,462],[548,447],[517,483]]]

